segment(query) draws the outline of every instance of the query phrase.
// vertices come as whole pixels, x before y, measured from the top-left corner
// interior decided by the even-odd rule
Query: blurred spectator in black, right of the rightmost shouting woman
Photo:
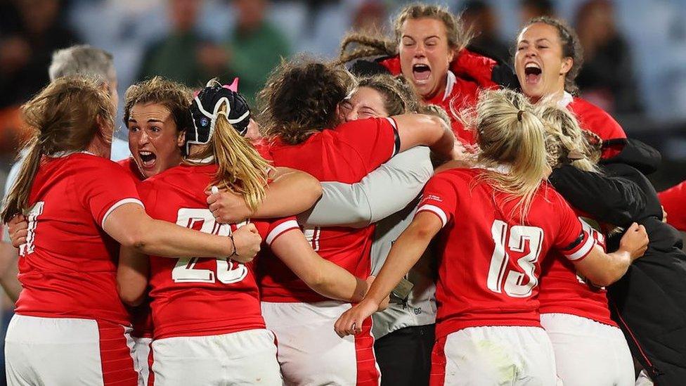
[[[626,39],[616,28],[608,0],[586,1],[576,13],[584,64],[576,78],[583,98],[608,112],[640,112]]]

